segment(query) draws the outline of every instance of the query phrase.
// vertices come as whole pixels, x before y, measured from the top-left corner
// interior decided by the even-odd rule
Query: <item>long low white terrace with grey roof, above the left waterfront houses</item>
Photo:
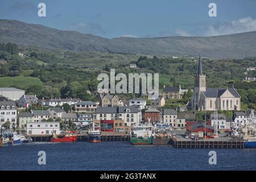
[[[63,104],[74,105],[77,102],[81,102],[79,98],[54,98],[50,100],[41,100],[43,106],[63,106]]]

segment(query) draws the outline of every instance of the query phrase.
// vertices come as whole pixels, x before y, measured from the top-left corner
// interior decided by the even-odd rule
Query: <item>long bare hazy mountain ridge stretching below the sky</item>
[[[102,38],[77,31],[49,28],[18,20],[0,19],[0,43],[67,49],[83,52],[142,55],[198,55],[214,58],[256,56],[256,31],[220,36],[168,36],[155,38]]]

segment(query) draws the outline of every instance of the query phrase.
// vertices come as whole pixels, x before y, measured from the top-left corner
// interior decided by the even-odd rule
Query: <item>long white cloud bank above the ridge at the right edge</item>
[[[241,32],[256,31],[256,19],[249,17],[224,22],[209,26],[204,32],[204,36],[217,36],[227,34],[237,34]]]

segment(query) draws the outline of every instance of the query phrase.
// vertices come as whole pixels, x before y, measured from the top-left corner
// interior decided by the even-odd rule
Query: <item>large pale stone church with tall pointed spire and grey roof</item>
[[[195,75],[195,90],[191,98],[192,110],[240,110],[241,97],[234,87],[207,88],[201,57]]]

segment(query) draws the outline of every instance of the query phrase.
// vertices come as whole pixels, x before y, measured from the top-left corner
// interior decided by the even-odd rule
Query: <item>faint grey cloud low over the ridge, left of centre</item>
[[[93,22],[73,22],[68,30],[75,30],[84,34],[103,34],[106,35],[106,30],[98,23]]]

